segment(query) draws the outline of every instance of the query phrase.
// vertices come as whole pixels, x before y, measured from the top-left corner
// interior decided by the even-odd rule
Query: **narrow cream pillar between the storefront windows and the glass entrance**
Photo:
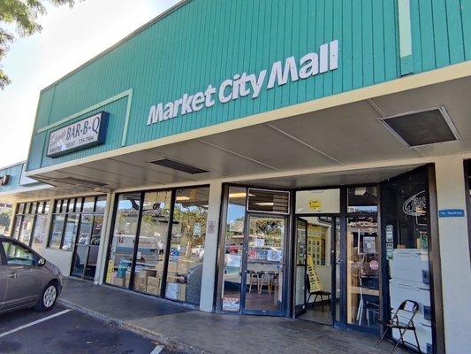
[[[217,181],[209,186],[209,209],[204,242],[204,259],[201,277],[200,310],[213,311],[214,287],[216,279],[217,235],[219,230],[219,212],[221,210],[222,183]]]

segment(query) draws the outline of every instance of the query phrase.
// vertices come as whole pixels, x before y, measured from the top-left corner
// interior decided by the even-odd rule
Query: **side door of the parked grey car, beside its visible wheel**
[[[42,267],[36,266],[33,250],[14,240],[2,241],[8,285],[3,311],[29,307],[42,293]]]

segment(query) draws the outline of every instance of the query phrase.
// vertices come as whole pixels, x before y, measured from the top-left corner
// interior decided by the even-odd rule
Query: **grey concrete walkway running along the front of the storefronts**
[[[65,278],[59,301],[188,353],[389,353],[376,337],[300,319],[207,313],[131,291]],[[397,353],[405,351],[398,350]]]

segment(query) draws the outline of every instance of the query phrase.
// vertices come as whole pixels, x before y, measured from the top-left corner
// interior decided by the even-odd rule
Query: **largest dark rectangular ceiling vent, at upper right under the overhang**
[[[407,147],[460,140],[458,130],[444,107],[408,112],[380,121]]]

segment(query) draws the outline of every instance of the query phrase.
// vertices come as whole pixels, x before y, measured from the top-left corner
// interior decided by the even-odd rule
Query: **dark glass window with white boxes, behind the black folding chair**
[[[428,189],[428,173],[422,169],[389,181],[381,191],[391,313],[404,300],[419,304],[414,325],[421,349],[433,346]],[[398,330],[392,336],[398,339]],[[404,339],[415,343],[412,333]]]

